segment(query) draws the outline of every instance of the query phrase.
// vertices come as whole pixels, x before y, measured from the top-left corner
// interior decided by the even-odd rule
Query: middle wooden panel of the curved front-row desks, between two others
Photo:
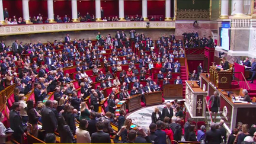
[[[146,106],[162,104],[162,91],[145,93]]]

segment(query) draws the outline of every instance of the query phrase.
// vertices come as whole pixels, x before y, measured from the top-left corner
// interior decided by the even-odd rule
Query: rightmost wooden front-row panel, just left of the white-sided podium
[[[164,98],[166,99],[183,99],[183,85],[167,84],[163,85]]]

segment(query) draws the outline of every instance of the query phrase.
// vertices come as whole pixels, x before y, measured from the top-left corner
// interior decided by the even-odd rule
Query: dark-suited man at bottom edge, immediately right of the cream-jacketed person
[[[111,143],[110,135],[103,132],[104,123],[98,121],[96,127],[98,132],[92,133],[91,143]]]

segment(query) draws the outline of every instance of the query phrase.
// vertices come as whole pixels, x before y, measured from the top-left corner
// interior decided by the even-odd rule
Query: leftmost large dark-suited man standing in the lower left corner
[[[12,110],[9,112],[10,127],[14,130],[12,136],[18,143],[22,143],[23,137],[27,136],[23,129],[23,122],[21,121],[20,111],[21,105],[18,102],[12,104]]]

